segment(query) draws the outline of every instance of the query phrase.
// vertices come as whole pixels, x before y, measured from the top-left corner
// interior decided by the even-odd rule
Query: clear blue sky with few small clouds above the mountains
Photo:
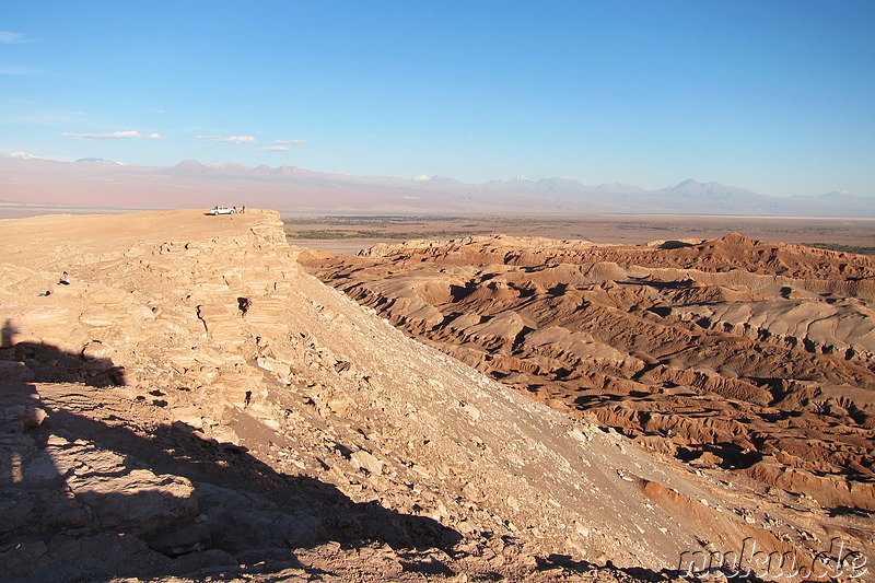
[[[0,0],[0,152],[875,195],[873,0]]]

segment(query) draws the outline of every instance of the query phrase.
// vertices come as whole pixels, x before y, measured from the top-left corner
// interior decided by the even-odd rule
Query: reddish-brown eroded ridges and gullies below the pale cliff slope
[[[732,233],[470,236],[305,263],[517,393],[873,548],[873,258]]]

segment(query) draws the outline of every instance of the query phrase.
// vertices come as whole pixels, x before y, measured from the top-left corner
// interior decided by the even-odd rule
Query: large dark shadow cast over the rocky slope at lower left
[[[15,343],[14,335],[7,322],[0,580],[155,576],[261,561],[282,567],[295,564],[294,549],[330,540],[450,549],[462,538],[431,518],[357,503],[330,483],[278,473],[245,448],[221,447],[182,423],[147,435],[118,417],[82,415],[92,407],[98,417],[102,404],[83,406],[81,395],[69,403],[65,395],[40,396],[35,383],[122,385],[124,370],[48,345]]]

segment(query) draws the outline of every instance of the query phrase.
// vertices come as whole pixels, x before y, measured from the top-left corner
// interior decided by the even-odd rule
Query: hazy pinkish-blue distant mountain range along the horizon
[[[466,184],[444,176],[350,176],[234,163],[137,166],[24,153],[0,155],[0,203],[162,209],[215,205],[298,212],[685,213],[875,217],[875,197],[847,193],[773,197],[693,179],[645,190],[567,177]]]

